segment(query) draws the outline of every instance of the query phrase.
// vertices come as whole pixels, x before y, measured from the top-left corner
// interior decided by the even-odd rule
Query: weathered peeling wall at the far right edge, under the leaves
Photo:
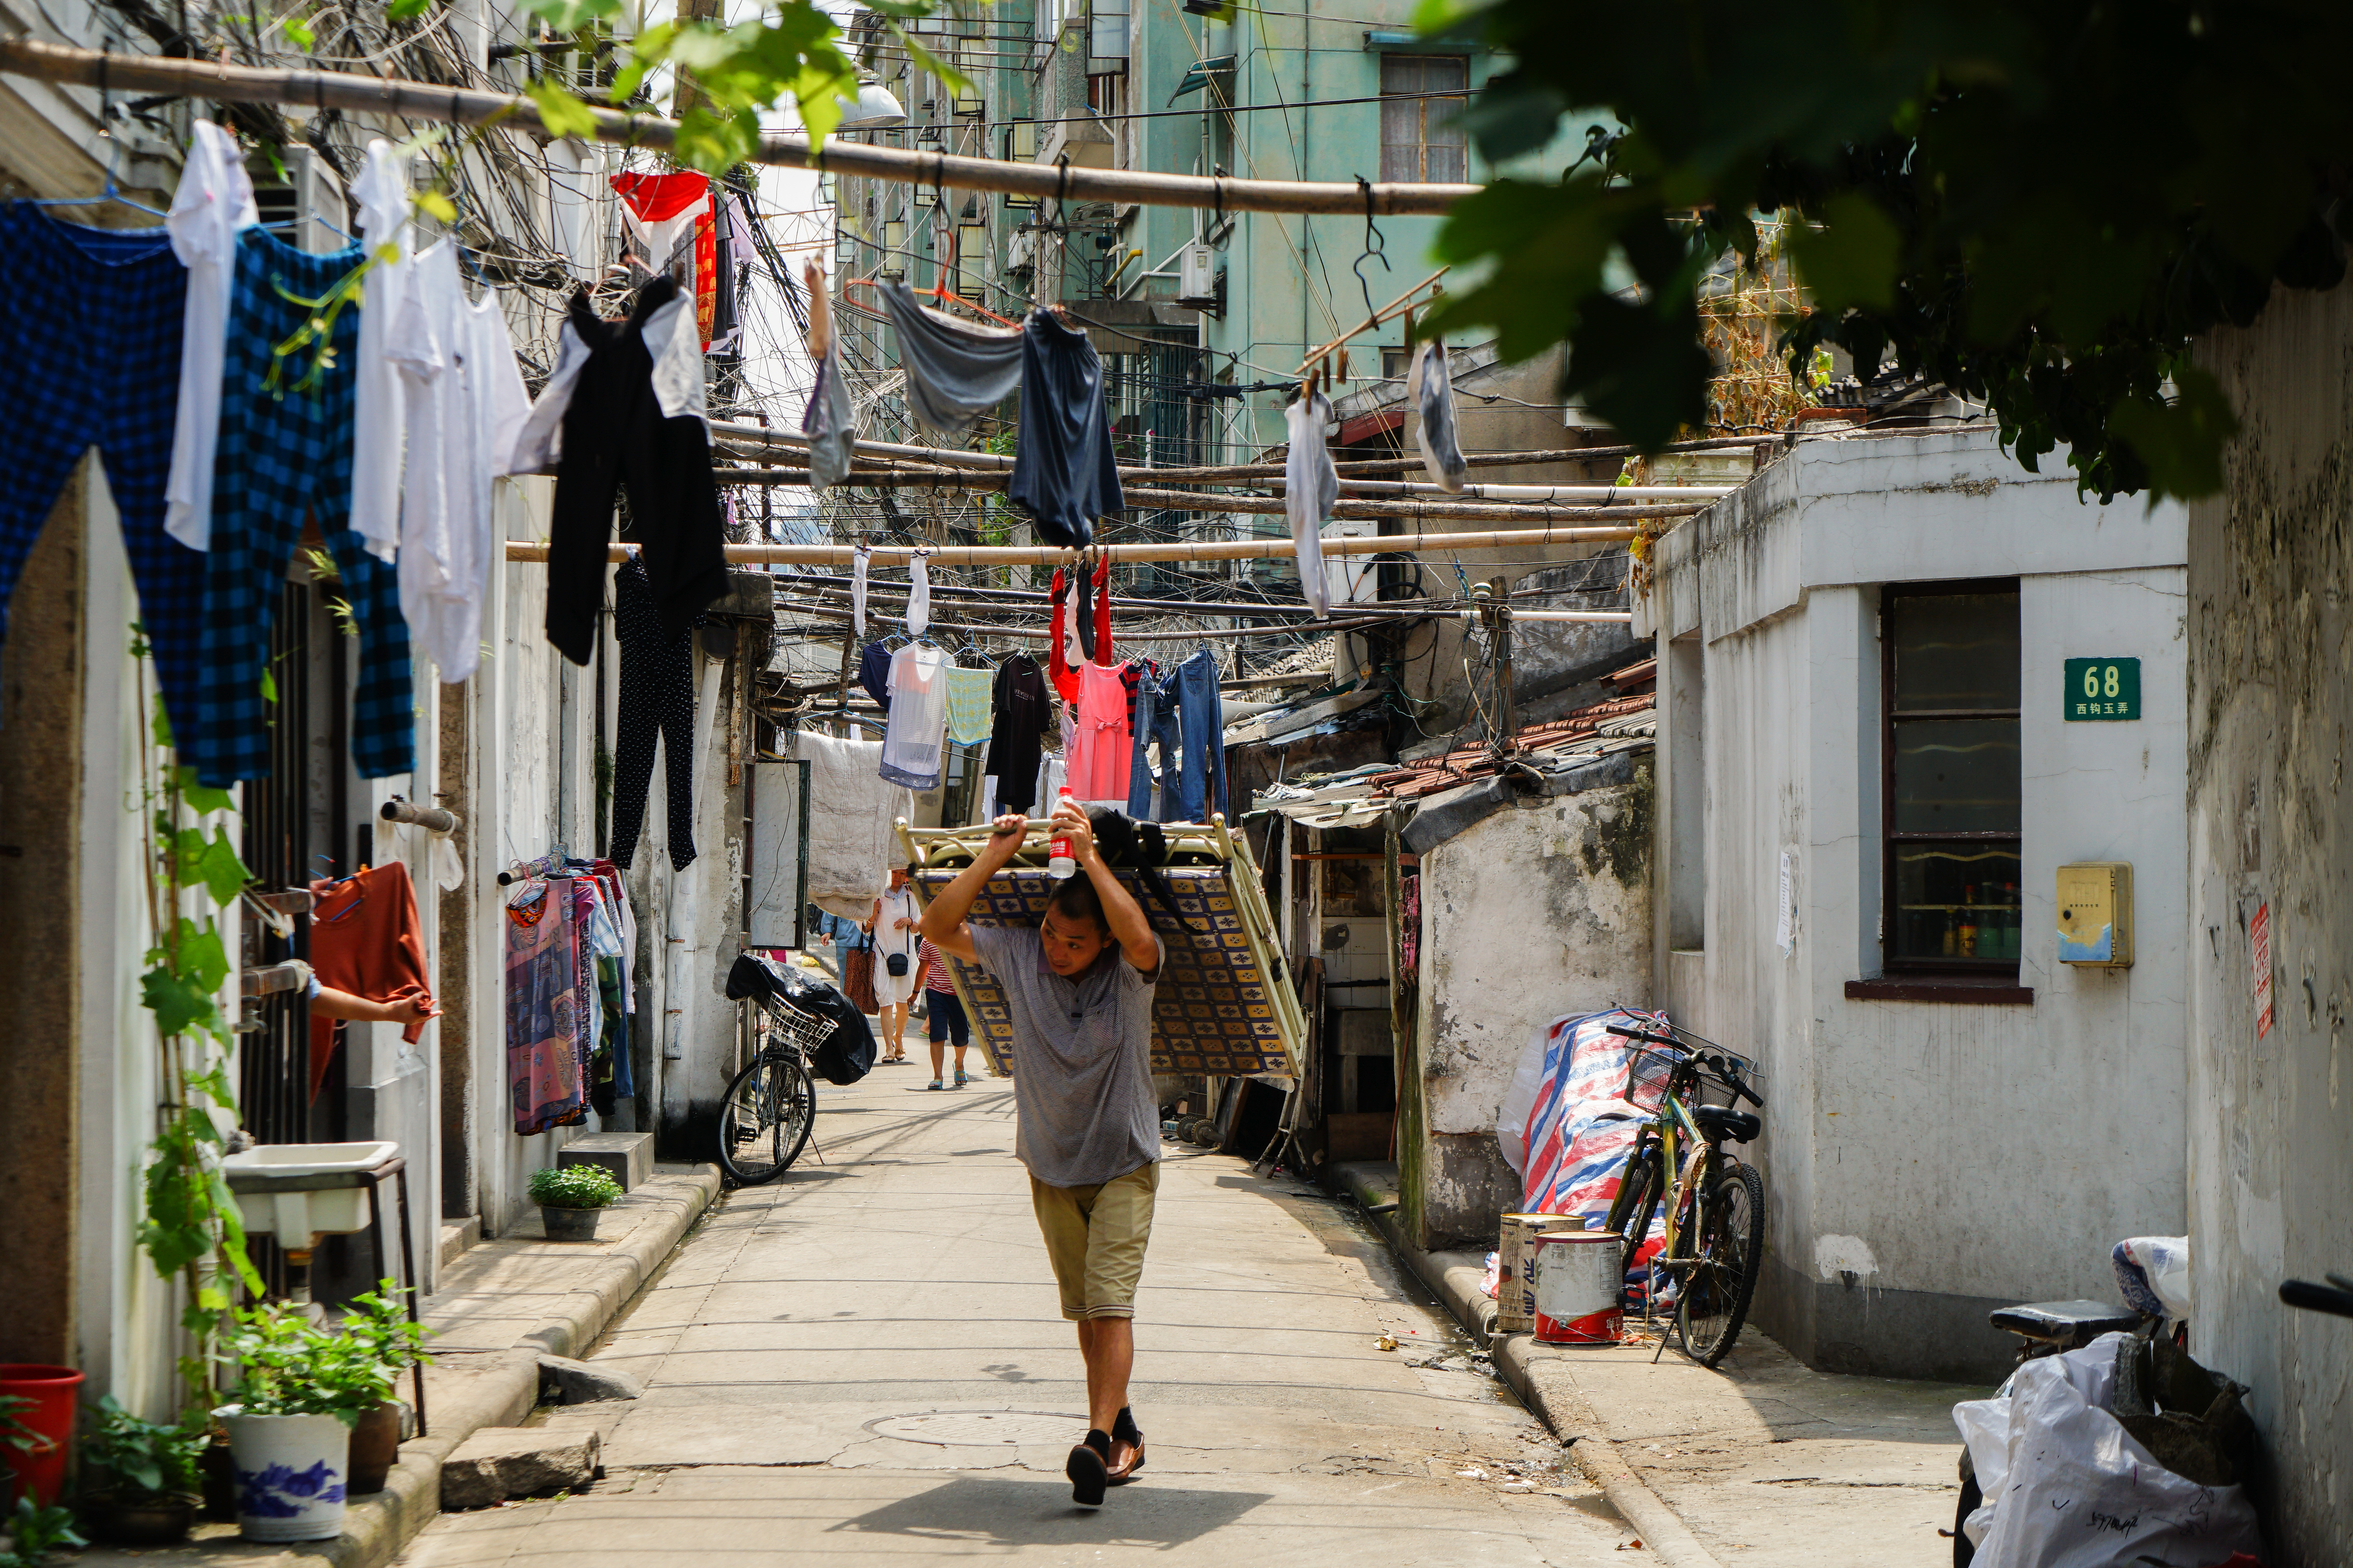
[[[2278,1286],[2353,1272],[2353,289],[2278,294],[2202,360],[2245,423],[2224,494],[2191,508],[2191,1349],[2254,1389],[2273,1561],[2341,1563],[2353,1326],[2282,1307]]]

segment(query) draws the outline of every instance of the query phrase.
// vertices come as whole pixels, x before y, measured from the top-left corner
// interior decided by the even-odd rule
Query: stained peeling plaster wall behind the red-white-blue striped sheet
[[[1494,1143],[1529,1034],[1649,1006],[1652,771],[1497,811],[1421,858],[1424,1246],[1494,1244],[1520,1178]]]

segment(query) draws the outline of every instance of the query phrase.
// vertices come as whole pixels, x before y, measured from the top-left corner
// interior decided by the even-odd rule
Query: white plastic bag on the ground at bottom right
[[[2240,1486],[2200,1486],[2160,1465],[2108,1406],[2118,1352],[2106,1333],[2082,1349],[2028,1361],[1993,1399],[1953,1406],[1986,1502],[1962,1530],[1974,1568],[2214,1568],[2261,1559],[2264,1537]]]

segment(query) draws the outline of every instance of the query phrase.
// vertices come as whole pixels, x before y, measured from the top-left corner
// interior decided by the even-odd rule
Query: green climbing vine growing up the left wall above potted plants
[[[146,632],[132,625],[132,658],[146,696]],[[228,1081],[235,1044],[219,992],[228,980],[228,945],[219,910],[245,891],[245,858],[219,820],[233,811],[228,790],[198,783],[172,750],[172,719],[153,693],[153,745],[139,748],[139,813],[151,947],[139,1001],[155,1016],[160,1048],[158,1131],[148,1145],[146,1213],[139,1248],[162,1279],[186,1291],[181,1328],[195,1349],[179,1371],[191,1401],[214,1387],[212,1347],[228,1316],[228,1281],[254,1295],[261,1276],[245,1255],[245,1222],[221,1171],[224,1126],[238,1121]],[[209,832],[205,818],[214,818]],[[205,910],[205,905],[212,905]]]

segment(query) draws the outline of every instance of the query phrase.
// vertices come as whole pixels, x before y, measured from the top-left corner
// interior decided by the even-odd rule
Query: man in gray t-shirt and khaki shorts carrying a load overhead
[[[1064,1474],[1085,1507],[1144,1467],[1144,1432],[1127,1408],[1136,1359],[1136,1281],[1160,1190],[1160,1110],[1153,1100],[1153,985],[1162,945],[1094,846],[1087,813],[1064,799],[1054,837],[1082,875],[1047,900],[1045,922],[972,926],[981,886],[1021,849],[1026,816],[1000,816],[995,837],[922,914],[939,950],[981,964],[1014,1016],[1014,1157],[1031,1173],[1031,1208],[1087,1361],[1087,1439]],[[936,1001],[934,1001],[936,1006]]]

